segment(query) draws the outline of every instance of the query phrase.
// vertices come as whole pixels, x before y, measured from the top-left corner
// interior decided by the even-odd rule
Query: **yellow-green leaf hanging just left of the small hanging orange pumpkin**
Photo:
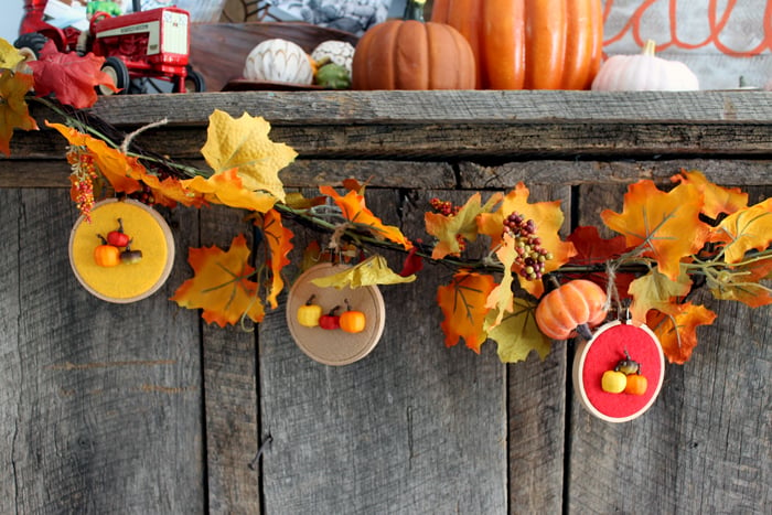
[[[542,360],[546,358],[551,348],[548,339],[536,323],[534,311],[536,304],[525,299],[515,298],[513,310],[504,315],[501,322],[487,332],[487,337],[498,345],[498,360],[502,363],[523,362],[532,351],[536,351]],[[491,311],[489,324],[497,313]]]

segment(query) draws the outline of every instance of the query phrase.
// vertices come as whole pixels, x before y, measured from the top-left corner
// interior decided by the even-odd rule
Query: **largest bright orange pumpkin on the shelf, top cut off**
[[[431,21],[472,45],[483,89],[589,89],[603,46],[601,0],[435,0]]]

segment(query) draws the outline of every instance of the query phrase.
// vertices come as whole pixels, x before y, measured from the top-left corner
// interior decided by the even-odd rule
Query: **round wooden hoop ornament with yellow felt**
[[[156,210],[132,200],[108,199],[94,205],[88,223],[81,216],[69,235],[69,265],[86,290],[108,302],[128,303],[163,286],[174,264],[174,238]],[[119,225],[131,239],[130,250],[139,250],[141,258],[100,266],[94,254],[103,245],[100,236],[107,238]],[[118,249],[126,251],[125,246]]]

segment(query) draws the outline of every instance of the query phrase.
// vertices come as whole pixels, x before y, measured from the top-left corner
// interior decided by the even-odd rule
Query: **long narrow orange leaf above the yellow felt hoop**
[[[142,189],[140,180],[147,175],[147,170],[136,158],[109,147],[105,141],[85,135],[62,124],[45,122],[46,126],[58,130],[72,147],[87,153],[93,160],[97,172],[110,183],[118,193],[135,193]]]

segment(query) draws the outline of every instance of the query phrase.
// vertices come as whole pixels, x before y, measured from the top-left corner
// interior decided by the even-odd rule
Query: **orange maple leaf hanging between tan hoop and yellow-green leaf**
[[[463,337],[469,348],[480,353],[487,339],[483,328],[489,312],[485,302],[494,287],[491,276],[461,270],[450,285],[437,289],[437,303],[444,314],[440,326],[446,346],[453,346]]]

